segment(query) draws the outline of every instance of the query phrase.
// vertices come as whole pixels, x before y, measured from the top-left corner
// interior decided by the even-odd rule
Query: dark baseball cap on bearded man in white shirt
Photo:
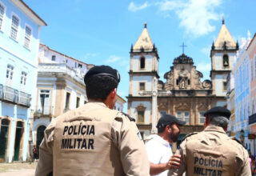
[[[161,129],[166,125],[171,125],[173,123],[177,123],[179,126],[184,126],[186,124],[185,121],[178,120],[178,118],[171,114],[164,114],[161,118],[159,118],[157,128]]]

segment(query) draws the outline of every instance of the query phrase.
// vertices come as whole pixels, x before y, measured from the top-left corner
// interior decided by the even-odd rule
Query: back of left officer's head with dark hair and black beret
[[[106,100],[111,90],[118,87],[120,75],[110,66],[94,66],[86,73],[84,81],[89,99]]]

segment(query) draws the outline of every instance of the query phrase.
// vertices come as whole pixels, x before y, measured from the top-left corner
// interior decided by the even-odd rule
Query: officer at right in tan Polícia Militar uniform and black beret
[[[168,175],[250,176],[246,148],[235,138],[226,135],[230,110],[216,106],[204,114],[204,130],[186,135],[180,149],[181,166]]]

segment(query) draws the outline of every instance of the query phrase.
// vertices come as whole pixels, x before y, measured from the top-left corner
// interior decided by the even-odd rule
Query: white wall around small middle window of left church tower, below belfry
[[[145,90],[152,91],[152,76],[133,76],[132,77],[132,94],[134,96],[140,96],[139,91],[139,82],[145,82]]]

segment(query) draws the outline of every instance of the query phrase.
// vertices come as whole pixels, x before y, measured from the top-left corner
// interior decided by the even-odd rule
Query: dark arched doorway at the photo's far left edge
[[[5,162],[9,123],[10,121],[8,119],[2,119],[0,131],[0,162]]]

